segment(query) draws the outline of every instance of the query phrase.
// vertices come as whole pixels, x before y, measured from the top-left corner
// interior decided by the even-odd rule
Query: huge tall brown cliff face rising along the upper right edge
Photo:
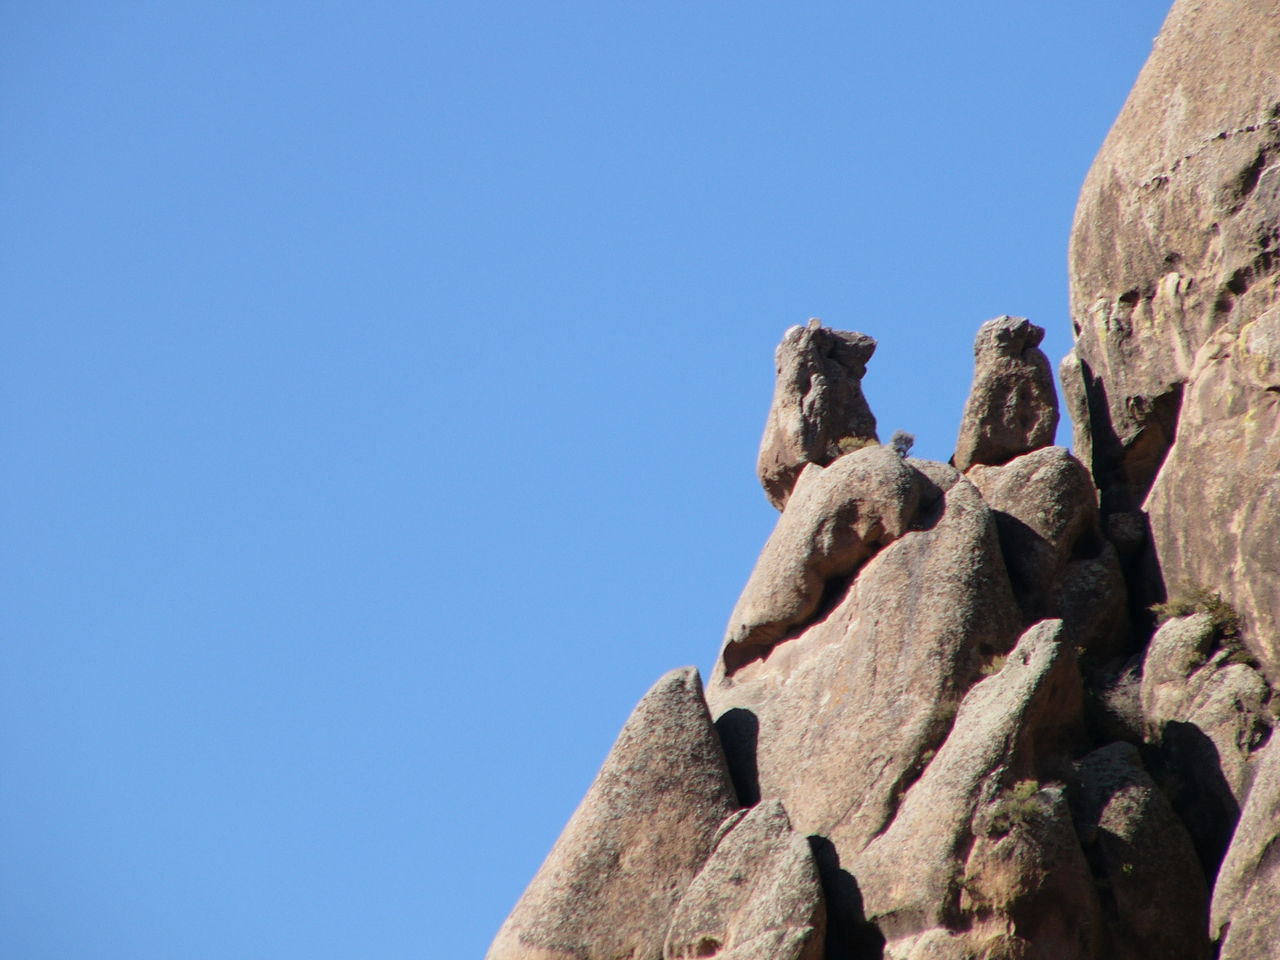
[[[1062,365],[1103,512],[1146,503],[1153,575],[1170,590],[1221,590],[1272,677],[1277,65],[1271,0],[1174,4],[1080,196]]]

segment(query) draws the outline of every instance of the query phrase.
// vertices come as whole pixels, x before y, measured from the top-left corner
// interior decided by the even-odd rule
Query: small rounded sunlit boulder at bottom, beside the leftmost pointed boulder
[[[685,891],[663,960],[819,960],[827,911],[809,842],[777,800],[733,814]]]

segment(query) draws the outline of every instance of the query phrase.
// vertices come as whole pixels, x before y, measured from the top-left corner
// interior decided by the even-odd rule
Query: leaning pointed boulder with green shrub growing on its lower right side
[[[851,870],[888,956],[913,956],[922,934],[987,956],[1091,957],[1098,934],[1092,878],[1061,788],[1080,731],[1080,676],[1061,621],[1028,630],[1004,666],[965,695],[937,755],[904,794],[892,823]]]

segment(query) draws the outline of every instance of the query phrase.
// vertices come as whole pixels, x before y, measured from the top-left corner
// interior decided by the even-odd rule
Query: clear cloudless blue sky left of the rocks
[[[480,957],[714,659],[782,332],[946,460],[1166,6],[0,4],[0,956]]]

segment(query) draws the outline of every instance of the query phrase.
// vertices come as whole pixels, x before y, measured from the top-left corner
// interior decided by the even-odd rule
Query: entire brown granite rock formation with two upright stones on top
[[[782,513],[489,960],[1280,960],[1280,4],[1178,0],[951,463],[786,332]],[[1158,602],[1158,603],[1157,603]],[[1157,622],[1160,621],[1160,622]]]

